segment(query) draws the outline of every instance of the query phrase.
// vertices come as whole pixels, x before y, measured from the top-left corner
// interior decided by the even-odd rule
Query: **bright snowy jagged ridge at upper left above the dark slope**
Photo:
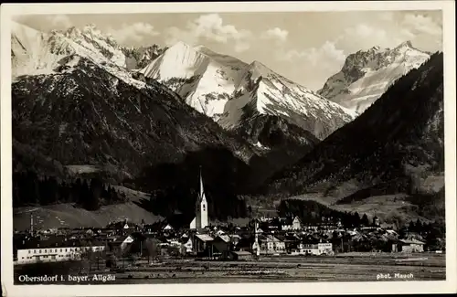
[[[133,80],[125,69],[126,57],[122,48],[110,42],[109,37],[93,26],[82,30],[71,27],[65,32],[51,31],[46,34],[16,24],[11,34],[13,77],[56,73],[57,69],[62,69],[62,63],[72,68],[74,65],[68,64],[68,58],[76,55],[89,59],[126,83],[137,88],[144,87],[142,81]]]

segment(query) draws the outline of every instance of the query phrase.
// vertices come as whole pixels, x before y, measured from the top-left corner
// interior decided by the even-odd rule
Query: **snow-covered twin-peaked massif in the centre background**
[[[324,139],[355,116],[259,61],[247,64],[183,42],[168,48],[140,73],[175,90],[227,130],[246,132],[248,118],[275,116]]]

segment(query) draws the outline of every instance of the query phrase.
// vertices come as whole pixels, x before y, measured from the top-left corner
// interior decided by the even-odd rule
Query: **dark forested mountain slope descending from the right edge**
[[[267,191],[320,191],[345,201],[430,192],[424,185],[444,171],[442,64],[442,53],[434,54],[411,70],[354,122],[274,176]]]

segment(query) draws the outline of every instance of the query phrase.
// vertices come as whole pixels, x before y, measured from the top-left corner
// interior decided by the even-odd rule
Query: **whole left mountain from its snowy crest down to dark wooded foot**
[[[165,86],[133,79],[122,48],[93,27],[43,34],[16,24],[12,33],[15,172],[65,179],[95,171],[113,184],[150,193],[165,186],[150,176],[157,170],[165,175],[160,168],[167,164],[183,168],[172,180],[196,188],[191,181],[203,165],[207,179],[219,185],[214,192],[208,186],[208,199],[236,200],[251,160],[261,159],[259,148],[225,132]]]

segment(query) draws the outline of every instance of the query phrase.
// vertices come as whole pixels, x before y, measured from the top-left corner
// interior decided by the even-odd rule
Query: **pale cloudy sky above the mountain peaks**
[[[441,11],[29,15],[16,21],[44,32],[93,24],[129,47],[203,45],[247,63],[258,60],[311,90],[360,49],[409,40],[421,50],[442,50]]]

